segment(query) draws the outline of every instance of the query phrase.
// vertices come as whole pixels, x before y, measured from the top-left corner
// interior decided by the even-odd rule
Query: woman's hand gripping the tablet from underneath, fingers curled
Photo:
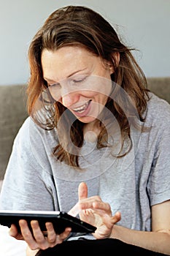
[[[53,224],[51,222],[46,222],[45,226],[47,231],[44,233],[39,227],[39,222],[36,220],[31,221],[31,230],[28,227],[28,223],[24,219],[19,221],[21,234],[18,233],[15,225],[12,225],[9,230],[9,235],[15,237],[16,239],[24,239],[31,250],[36,249],[47,249],[53,247],[56,244],[61,244],[70,234],[71,227],[66,227],[63,233],[60,235],[55,233]]]

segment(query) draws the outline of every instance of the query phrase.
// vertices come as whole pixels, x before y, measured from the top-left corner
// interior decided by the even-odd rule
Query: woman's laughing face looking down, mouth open
[[[42,70],[53,98],[84,123],[94,121],[110,94],[113,67],[85,48],[42,51]]]

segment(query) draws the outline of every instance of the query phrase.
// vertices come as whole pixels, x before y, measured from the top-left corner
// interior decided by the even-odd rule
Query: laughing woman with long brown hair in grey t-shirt
[[[44,236],[35,220],[33,235],[20,220],[22,235],[15,225],[10,235],[26,240],[27,255],[74,252],[72,244],[74,254],[117,246],[170,255],[170,106],[147,90],[131,50],[79,6],[53,12],[32,40],[30,117],[15,139],[1,208],[66,211],[97,229],[58,235],[47,222]]]

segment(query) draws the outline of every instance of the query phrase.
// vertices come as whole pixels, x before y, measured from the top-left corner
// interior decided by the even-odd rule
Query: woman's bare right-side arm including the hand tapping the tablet
[[[170,200],[152,206],[152,232],[131,230],[115,225],[120,220],[119,213],[112,217],[108,203],[100,197],[87,197],[88,188],[79,187],[79,203],[71,213],[79,212],[80,218],[97,227],[93,234],[98,238],[117,238],[127,244],[170,255]]]

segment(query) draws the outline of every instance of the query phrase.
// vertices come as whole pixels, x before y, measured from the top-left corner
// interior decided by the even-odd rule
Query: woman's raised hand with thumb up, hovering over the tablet
[[[112,216],[108,203],[100,197],[88,197],[88,187],[82,182],[78,189],[79,202],[69,211],[72,216],[80,215],[80,219],[97,227],[93,236],[97,239],[109,238],[115,223],[121,219],[120,212]]]

